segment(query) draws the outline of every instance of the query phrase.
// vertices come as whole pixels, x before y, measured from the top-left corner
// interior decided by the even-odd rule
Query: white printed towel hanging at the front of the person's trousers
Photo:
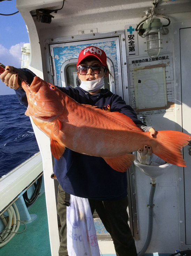
[[[100,256],[87,198],[70,197],[70,206],[67,207],[67,250],[69,256]]]

